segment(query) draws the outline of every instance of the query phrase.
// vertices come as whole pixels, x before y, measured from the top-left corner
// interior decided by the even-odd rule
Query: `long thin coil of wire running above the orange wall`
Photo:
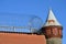
[[[18,15],[18,16],[16,16]],[[40,30],[40,28],[42,26],[43,24],[43,21],[41,18],[36,16],[36,15],[23,15],[21,16],[21,14],[16,14],[16,15],[9,15],[6,16],[6,13],[2,14],[2,16],[0,19],[2,19],[2,22],[0,22],[0,31],[2,31],[2,29],[6,29],[6,31],[8,31],[9,29],[12,30],[13,32],[16,30],[16,29],[28,29],[30,30],[30,32],[36,32]],[[3,19],[8,19],[8,21],[11,22],[11,26],[10,25],[4,25],[6,23],[10,23],[10,22],[6,22],[6,20]],[[18,23],[19,20],[22,22]],[[0,20],[1,21],[1,20]],[[13,25],[13,21],[15,21],[14,23],[15,24],[21,24],[21,25]],[[23,22],[24,21],[24,22]],[[6,23],[4,23],[6,22]],[[3,24],[3,25],[2,25]],[[23,25],[25,24],[25,25]],[[4,31],[4,30],[3,30]]]

